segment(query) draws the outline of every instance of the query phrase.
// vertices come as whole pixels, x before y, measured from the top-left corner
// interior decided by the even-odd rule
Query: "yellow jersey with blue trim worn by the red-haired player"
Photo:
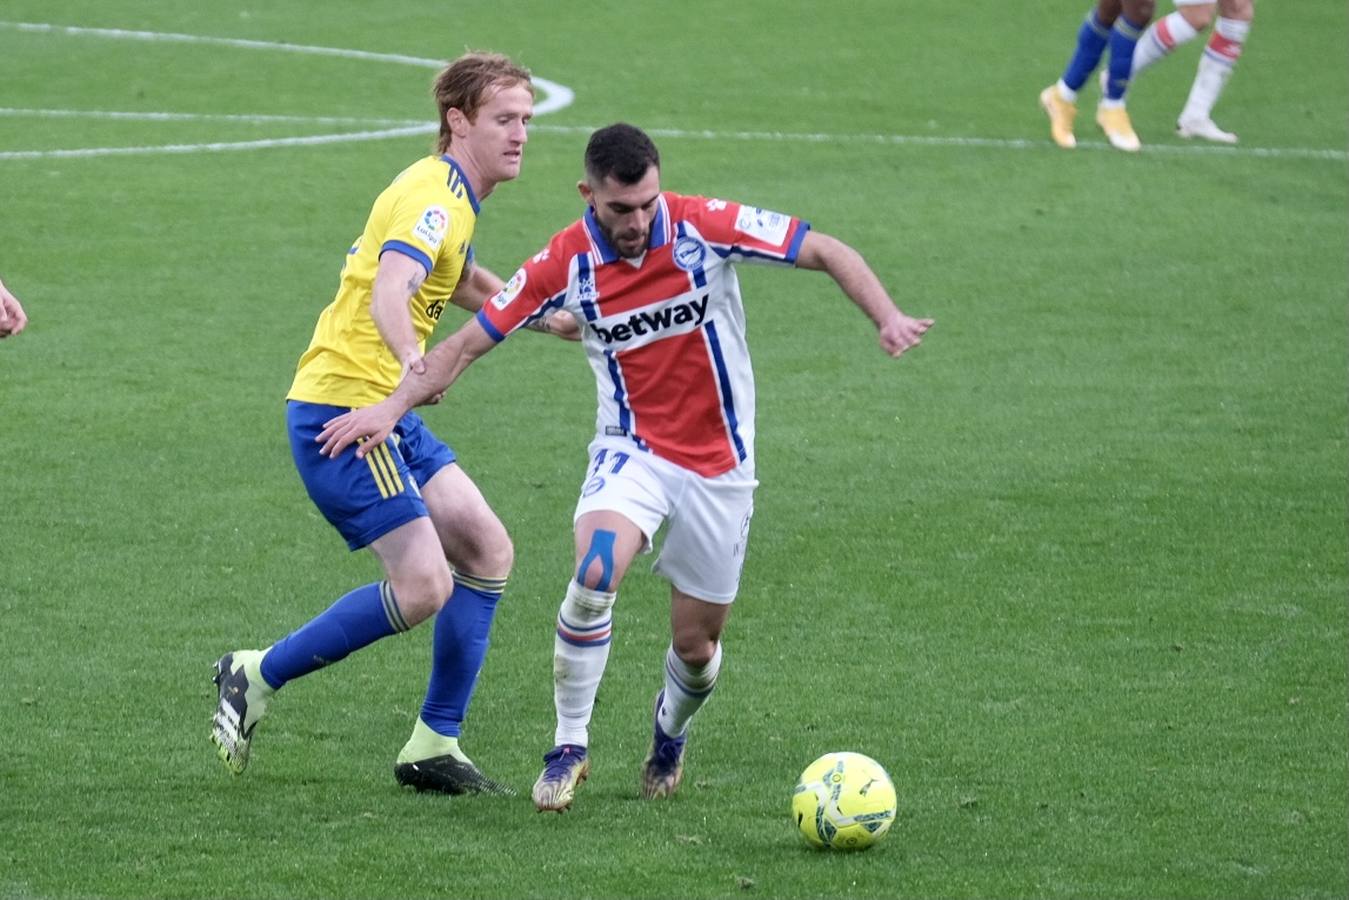
[[[449,157],[405,169],[375,200],[360,237],[347,251],[337,297],[318,316],[287,399],[331,406],[378,403],[398,386],[402,364],[370,314],[371,289],[386,252],[426,270],[409,300],[422,351],[471,258],[478,198]]]

